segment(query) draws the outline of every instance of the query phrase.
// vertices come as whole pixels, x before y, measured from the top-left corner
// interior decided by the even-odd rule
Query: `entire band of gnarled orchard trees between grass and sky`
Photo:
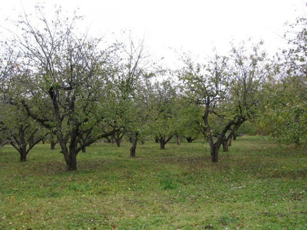
[[[38,6],[2,41],[0,146],[11,143],[21,161],[46,135],[56,137],[66,170],[76,170],[78,153],[104,137],[120,146],[127,135],[135,157],[139,139],[156,138],[164,149],[173,136],[202,135],[217,162],[220,146],[226,151],[245,122],[281,142],[306,143],[305,18],[291,25],[301,30],[277,58],[262,41],[242,42],[202,61],[183,54],[175,71],[152,62],[144,41],[107,44],[80,33],[80,20],[60,8],[47,19]]]

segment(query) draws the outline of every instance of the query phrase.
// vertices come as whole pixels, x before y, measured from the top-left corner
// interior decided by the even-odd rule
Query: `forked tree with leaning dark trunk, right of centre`
[[[251,53],[244,46],[234,47],[229,57],[216,54],[205,64],[183,58],[185,66],[179,71],[179,79],[185,97],[202,107],[202,129],[212,162],[218,161],[222,144],[226,150],[227,138],[257,115],[257,92],[269,74],[261,44],[252,47]]]

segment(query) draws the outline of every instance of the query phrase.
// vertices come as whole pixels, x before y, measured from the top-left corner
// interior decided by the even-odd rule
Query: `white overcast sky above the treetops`
[[[33,12],[38,2],[46,2],[46,11],[61,5],[67,15],[80,8],[85,16],[80,29],[86,25],[94,36],[131,30],[144,38],[153,56],[168,62],[175,61],[169,47],[196,55],[207,55],[213,47],[226,53],[229,42],[248,38],[264,40],[273,53],[286,45],[284,23],[307,12],[303,0],[0,0],[1,25],[9,27],[5,19],[16,19],[23,8]]]

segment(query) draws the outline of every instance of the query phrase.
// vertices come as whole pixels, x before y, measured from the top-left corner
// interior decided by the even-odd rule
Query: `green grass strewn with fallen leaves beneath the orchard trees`
[[[65,172],[57,146],[0,150],[0,229],[307,229],[304,149],[241,137],[220,161],[200,142],[96,143]]]

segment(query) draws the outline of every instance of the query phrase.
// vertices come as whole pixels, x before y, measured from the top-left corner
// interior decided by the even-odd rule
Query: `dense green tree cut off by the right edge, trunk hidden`
[[[262,119],[258,127],[278,141],[299,145],[307,143],[307,19],[291,25],[290,48],[282,50],[277,74],[263,90]],[[291,33],[292,35],[292,33]]]

